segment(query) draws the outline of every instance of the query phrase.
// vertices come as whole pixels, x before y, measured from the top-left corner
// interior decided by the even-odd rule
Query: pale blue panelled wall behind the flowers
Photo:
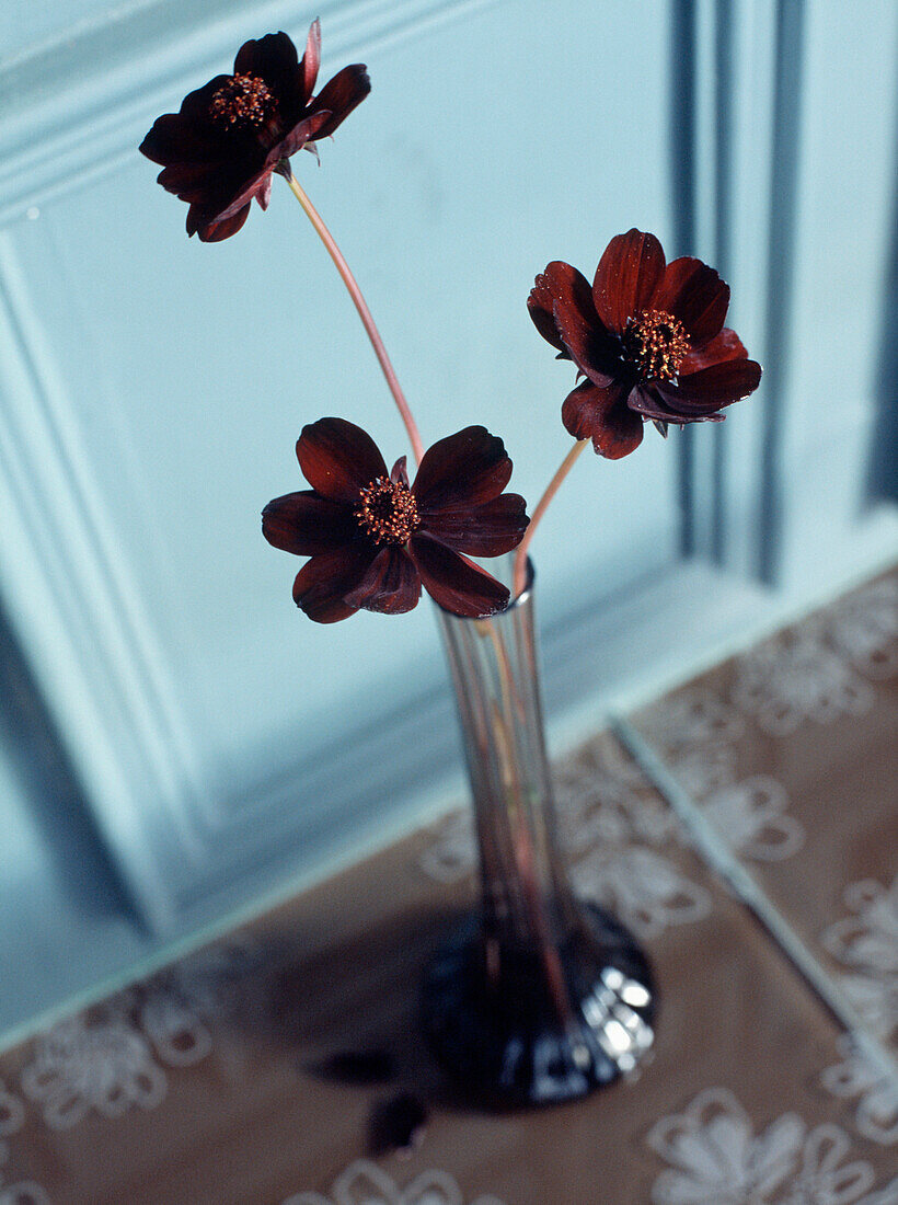
[[[583,457],[534,542],[552,752],[898,557],[892,0],[12,0],[0,12],[0,1031],[463,794],[427,604],[311,624],[259,512],[304,423],[405,434],[295,200],[221,245],[136,151],[248,37],[372,93],[298,155],[424,441],[535,502],[573,384],[526,312],[655,231],[765,369]]]

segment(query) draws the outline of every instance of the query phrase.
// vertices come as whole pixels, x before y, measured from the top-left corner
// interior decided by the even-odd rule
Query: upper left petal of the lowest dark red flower
[[[309,484],[335,502],[354,505],[365,486],[387,476],[371,436],[345,418],[319,418],[304,427],[297,457]]]

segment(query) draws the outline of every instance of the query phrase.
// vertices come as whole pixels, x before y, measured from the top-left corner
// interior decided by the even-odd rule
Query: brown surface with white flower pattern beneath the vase
[[[787,931],[616,737],[557,766],[577,888],[662,988],[635,1082],[512,1115],[442,1082],[417,982],[473,898],[458,812],[7,1051],[0,1205],[898,1205],[898,575],[628,733]]]

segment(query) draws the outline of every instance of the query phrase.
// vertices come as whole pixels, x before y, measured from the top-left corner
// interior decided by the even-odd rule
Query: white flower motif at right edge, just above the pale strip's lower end
[[[821,941],[851,971],[840,977],[845,994],[888,1040],[898,1025],[898,877],[891,888],[871,878],[852,883],[844,898],[855,916],[830,924]]]

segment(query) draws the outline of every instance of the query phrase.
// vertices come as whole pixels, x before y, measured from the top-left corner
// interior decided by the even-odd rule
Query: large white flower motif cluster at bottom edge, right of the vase
[[[838,1125],[808,1130],[785,1113],[756,1135],[736,1098],[710,1088],[650,1130],[647,1144],[671,1168],[652,1187],[653,1205],[869,1205],[869,1163],[845,1162],[851,1144]]]

